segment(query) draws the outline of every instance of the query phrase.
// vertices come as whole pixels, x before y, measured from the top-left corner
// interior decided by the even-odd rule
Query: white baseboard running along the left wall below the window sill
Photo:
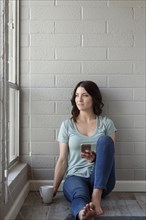
[[[26,199],[30,188],[29,188],[30,184],[29,181],[25,184],[24,188],[22,189],[21,193],[19,194],[19,196],[17,197],[17,199],[15,200],[15,202],[13,203],[13,206],[11,207],[10,211],[8,212],[8,214],[4,217],[4,220],[15,220],[23,203],[24,200]]]

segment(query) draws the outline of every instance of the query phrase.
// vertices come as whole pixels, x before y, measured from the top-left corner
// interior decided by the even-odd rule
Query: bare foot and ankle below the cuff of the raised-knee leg
[[[94,189],[92,193],[92,202],[95,205],[95,211],[96,215],[102,215],[103,210],[101,208],[101,195],[102,195],[102,190],[101,189]]]

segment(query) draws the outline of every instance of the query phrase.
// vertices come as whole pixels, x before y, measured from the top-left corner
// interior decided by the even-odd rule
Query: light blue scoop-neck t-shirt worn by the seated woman
[[[117,129],[111,119],[107,117],[96,117],[96,131],[91,136],[81,134],[72,119],[67,119],[62,122],[58,141],[61,143],[68,143],[68,168],[66,176],[82,176],[89,177],[93,171],[94,163],[89,163],[80,156],[80,145],[82,143],[90,143],[92,151],[96,151],[96,142],[101,135],[110,135]]]

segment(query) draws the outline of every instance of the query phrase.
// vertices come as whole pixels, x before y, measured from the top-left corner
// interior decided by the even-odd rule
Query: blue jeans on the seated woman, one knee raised
[[[102,197],[109,194],[115,186],[114,142],[111,137],[102,135],[96,144],[96,161],[89,178],[69,176],[63,185],[64,196],[71,202],[72,214],[91,201],[94,188],[103,189]]]

